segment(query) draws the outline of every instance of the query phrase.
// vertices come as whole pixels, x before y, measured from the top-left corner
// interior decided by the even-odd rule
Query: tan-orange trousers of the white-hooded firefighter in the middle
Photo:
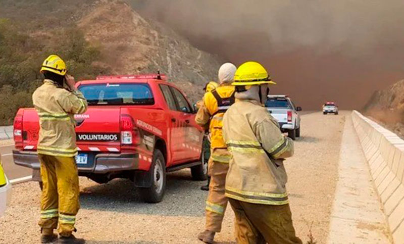
[[[225,196],[225,185],[229,164],[215,161],[211,157],[208,167],[211,182],[205,208],[206,229],[220,232],[228,201]]]

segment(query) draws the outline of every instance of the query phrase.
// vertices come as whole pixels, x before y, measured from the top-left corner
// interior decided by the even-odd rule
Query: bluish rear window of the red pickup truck
[[[90,84],[78,88],[89,105],[153,105],[155,100],[150,86],[135,84]]]

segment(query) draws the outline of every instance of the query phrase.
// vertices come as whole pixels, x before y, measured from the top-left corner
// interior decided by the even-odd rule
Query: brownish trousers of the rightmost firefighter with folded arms
[[[237,243],[299,243],[289,204],[264,205],[229,199],[235,214]]]

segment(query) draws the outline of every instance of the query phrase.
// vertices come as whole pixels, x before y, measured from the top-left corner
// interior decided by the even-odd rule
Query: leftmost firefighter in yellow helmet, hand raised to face
[[[37,152],[43,182],[41,242],[57,239],[54,229],[59,223],[59,242],[83,243],[83,239],[72,235],[80,208],[73,116],[87,110],[87,101],[75,87],[74,78],[67,75],[65,62],[57,55],[47,57],[40,72],[45,79],[33,93],[32,101],[40,125]]]

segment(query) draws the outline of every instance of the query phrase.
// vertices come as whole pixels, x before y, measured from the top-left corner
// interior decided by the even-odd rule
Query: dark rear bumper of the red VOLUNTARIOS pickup
[[[25,152],[14,150],[13,151],[14,163],[23,167],[28,167],[33,170],[39,170],[40,164],[38,155],[36,152]],[[119,172],[125,170],[137,170],[137,169],[149,169],[150,162],[139,162],[138,153],[122,153],[122,154],[110,154],[99,153],[95,154],[89,162],[89,167],[81,167],[78,165],[79,173],[94,173],[94,174],[106,174],[110,172]]]

